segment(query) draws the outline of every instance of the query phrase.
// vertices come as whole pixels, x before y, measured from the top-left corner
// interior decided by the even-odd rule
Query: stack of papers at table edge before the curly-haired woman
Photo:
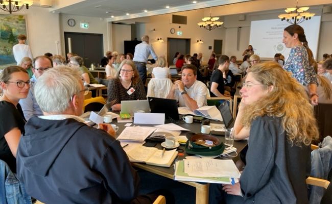
[[[232,160],[190,159],[176,162],[174,180],[234,184],[240,176]]]

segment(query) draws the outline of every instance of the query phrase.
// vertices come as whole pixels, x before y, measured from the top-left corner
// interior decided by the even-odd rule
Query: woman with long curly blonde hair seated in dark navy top
[[[235,185],[210,185],[209,203],[309,203],[310,144],[319,136],[304,88],[275,62],[251,67],[241,89],[250,129],[247,165]]]

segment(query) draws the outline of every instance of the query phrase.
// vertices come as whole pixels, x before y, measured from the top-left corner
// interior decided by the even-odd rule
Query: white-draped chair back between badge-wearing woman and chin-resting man
[[[166,98],[171,91],[173,83],[170,79],[152,78],[148,83],[149,97]]]

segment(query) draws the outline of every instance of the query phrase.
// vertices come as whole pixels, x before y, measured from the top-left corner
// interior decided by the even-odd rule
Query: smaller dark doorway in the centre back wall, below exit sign
[[[182,55],[190,54],[190,41],[191,39],[180,39],[180,38],[167,38],[167,56],[168,65],[173,65],[173,59],[176,52]]]

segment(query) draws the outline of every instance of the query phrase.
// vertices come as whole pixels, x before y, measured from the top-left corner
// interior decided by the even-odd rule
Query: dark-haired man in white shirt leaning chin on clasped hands
[[[181,81],[175,81],[167,98],[179,101],[180,107],[185,106],[192,111],[206,106],[207,88],[204,83],[197,81],[197,68],[188,64],[181,69]]]

